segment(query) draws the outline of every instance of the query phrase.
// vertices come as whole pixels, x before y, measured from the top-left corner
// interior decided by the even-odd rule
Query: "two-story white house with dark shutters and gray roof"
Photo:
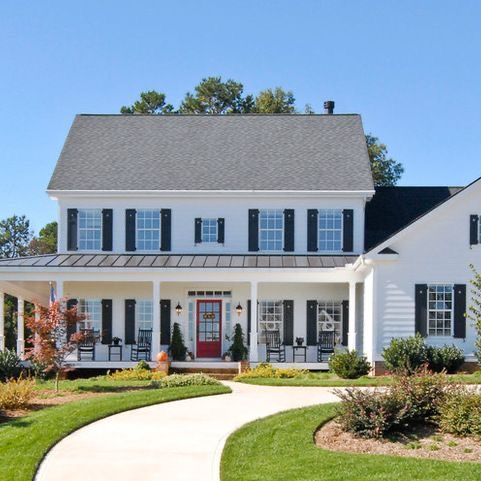
[[[23,303],[53,284],[98,334],[79,366],[126,365],[146,330],[155,356],[174,322],[196,361],[221,360],[236,323],[253,363],[272,332],[313,369],[323,332],[377,366],[416,331],[474,360],[481,181],[376,190],[359,115],[78,115],[47,192],[58,254],[0,260],[20,353]]]

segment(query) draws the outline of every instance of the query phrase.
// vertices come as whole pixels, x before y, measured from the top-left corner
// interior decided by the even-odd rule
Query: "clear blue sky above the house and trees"
[[[45,188],[76,113],[148,89],[177,105],[209,75],[334,99],[402,185],[464,185],[481,175],[480,18],[477,0],[2,0],[0,218],[55,218]]]

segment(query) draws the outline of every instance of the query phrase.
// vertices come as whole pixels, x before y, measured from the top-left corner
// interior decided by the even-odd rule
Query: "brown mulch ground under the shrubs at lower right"
[[[458,438],[427,425],[390,439],[365,439],[344,432],[334,420],[321,426],[315,441],[318,447],[331,451],[481,462],[481,440]]]

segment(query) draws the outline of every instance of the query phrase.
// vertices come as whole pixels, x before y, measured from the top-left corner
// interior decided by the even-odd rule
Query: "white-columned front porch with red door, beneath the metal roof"
[[[148,360],[154,362],[160,350],[168,350],[174,323],[179,324],[189,352],[189,362],[174,362],[174,369],[233,369],[237,363],[223,358],[238,323],[252,366],[268,360],[266,332],[276,331],[285,355],[283,362],[271,355],[272,364],[326,370],[328,356],[318,356],[320,332],[331,331],[336,348],[362,349],[362,279],[349,267],[352,264],[340,264],[336,260],[329,268],[319,267],[323,261],[318,261],[313,268],[255,269],[205,268],[204,264],[202,269],[155,271],[69,264],[66,272],[58,265],[22,269],[10,264],[3,269],[0,263],[0,304],[4,293],[18,299],[16,348],[23,355],[24,302],[46,305],[50,283],[58,299],[75,301],[87,317],[82,327],[96,333],[94,358],[79,361],[76,352],[71,355],[72,366],[79,369],[132,367],[137,362],[132,347],[140,329],[151,331]],[[0,348],[3,321],[0,309]],[[120,338],[120,347],[113,347],[115,337]],[[302,338],[302,349],[295,348],[297,338]]]

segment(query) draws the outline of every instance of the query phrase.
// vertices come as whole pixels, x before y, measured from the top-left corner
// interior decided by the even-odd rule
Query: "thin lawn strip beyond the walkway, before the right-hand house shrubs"
[[[474,374],[455,374],[448,376],[450,380],[463,384],[481,384],[481,372]],[[277,378],[250,378],[238,382],[257,384],[260,386],[323,386],[323,387],[346,387],[346,386],[388,386],[392,383],[391,376],[364,376],[359,379],[341,379],[329,372],[310,372],[305,375],[277,379]]]

